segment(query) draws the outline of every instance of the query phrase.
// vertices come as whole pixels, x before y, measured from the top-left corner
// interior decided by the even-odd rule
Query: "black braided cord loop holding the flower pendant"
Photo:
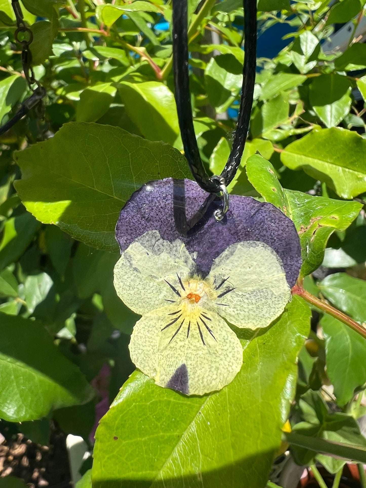
[[[253,104],[256,73],[257,1],[243,0],[243,5],[245,47],[243,88],[232,149],[224,170],[221,173],[226,186],[234,178],[242,159]],[[173,0],[174,88],[184,154],[197,183],[207,192],[217,193],[220,191],[219,184],[217,181],[210,180],[203,166],[194,133],[189,91],[187,23],[187,0]]]

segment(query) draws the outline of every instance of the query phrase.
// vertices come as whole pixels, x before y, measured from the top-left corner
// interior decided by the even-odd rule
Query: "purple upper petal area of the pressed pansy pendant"
[[[198,271],[206,276],[212,262],[230,244],[260,241],[283,261],[289,286],[301,267],[299,236],[292,221],[271,203],[230,195],[230,208],[221,222],[214,211],[222,201],[196,182],[166,178],[144,184],[121,210],[116,239],[123,252],[148,230],[158,230],[166,241],[180,239],[197,253]]]

